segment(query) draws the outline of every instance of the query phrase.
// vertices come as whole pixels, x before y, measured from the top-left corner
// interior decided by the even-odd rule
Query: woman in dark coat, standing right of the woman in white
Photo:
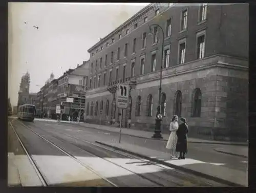
[[[185,118],[180,118],[180,122],[181,124],[179,125],[178,131],[176,132],[178,136],[176,152],[180,153],[180,157],[178,159],[185,159],[185,154],[187,153],[188,126],[186,124]]]

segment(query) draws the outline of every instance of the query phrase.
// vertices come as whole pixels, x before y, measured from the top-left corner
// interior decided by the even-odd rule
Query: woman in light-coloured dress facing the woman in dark
[[[178,136],[176,134],[176,131],[179,128],[178,118],[179,117],[175,115],[170,121],[170,126],[169,126],[170,135],[166,144],[166,148],[170,149],[170,158],[178,158],[178,153],[176,152],[176,144],[178,141]]]

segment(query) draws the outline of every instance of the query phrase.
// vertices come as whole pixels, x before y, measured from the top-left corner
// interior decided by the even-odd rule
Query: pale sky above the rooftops
[[[17,105],[19,83],[27,71],[30,92],[38,92],[52,72],[58,78],[69,68],[88,60],[89,48],[146,5],[148,3],[8,3],[11,104]]]

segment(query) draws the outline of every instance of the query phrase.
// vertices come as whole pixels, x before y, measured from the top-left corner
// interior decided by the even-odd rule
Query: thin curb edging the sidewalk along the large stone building
[[[59,121],[60,123],[67,123],[67,124],[73,124],[73,123],[69,123],[69,122],[62,122]],[[95,128],[95,127],[91,127],[91,126],[86,126],[86,125],[80,125],[83,127],[87,127],[87,128],[93,128],[95,130],[100,130],[100,131],[108,131],[108,130],[104,130],[102,128]],[[113,133],[119,133],[119,132],[115,132],[115,131],[108,131],[108,132],[113,132]],[[138,138],[142,138],[142,139],[153,139],[153,140],[159,140],[159,141],[168,141],[167,139],[154,139],[154,138],[148,138],[148,137],[142,137],[142,136],[137,136],[137,135],[131,135],[131,134],[125,134],[122,133],[123,135],[127,135],[127,136],[132,136],[132,137],[138,137]],[[203,143],[203,144],[216,144],[216,145],[235,145],[235,146],[248,146],[248,144],[239,144],[239,143],[222,143],[222,142],[202,142],[202,141],[188,141],[188,143]]]

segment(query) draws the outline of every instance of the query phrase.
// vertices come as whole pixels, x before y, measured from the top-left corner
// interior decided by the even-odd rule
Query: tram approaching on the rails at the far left
[[[18,119],[24,121],[33,121],[35,117],[35,105],[23,104],[18,108]]]

